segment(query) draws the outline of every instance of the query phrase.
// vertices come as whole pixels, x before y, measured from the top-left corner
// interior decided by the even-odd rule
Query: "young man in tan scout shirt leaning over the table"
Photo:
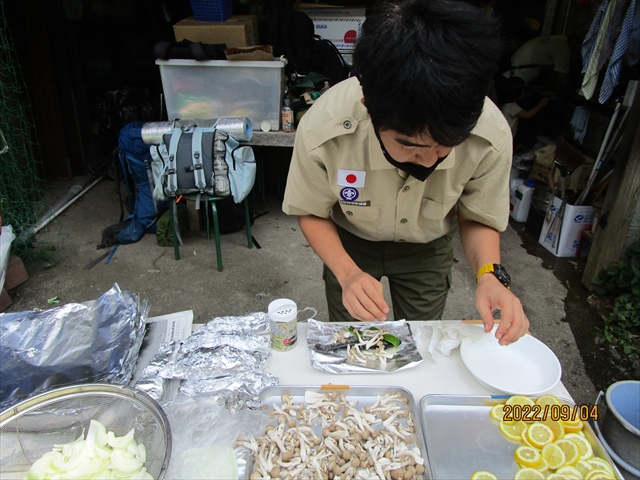
[[[441,318],[459,226],[485,330],[498,308],[501,344],[527,331],[500,266],[511,133],[485,98],[497,31],[463,2],[385,4],[364,24],[357,78],[300,122],[283,210],[325,263],[331,321],[385,320],[382,276],[396,319]]]

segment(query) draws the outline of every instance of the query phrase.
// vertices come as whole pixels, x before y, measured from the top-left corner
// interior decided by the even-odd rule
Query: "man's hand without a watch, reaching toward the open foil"
[[[342,303],[353,318],[362,322],[384,321],[389,313],[382,283],[363,271],[344,281]]]

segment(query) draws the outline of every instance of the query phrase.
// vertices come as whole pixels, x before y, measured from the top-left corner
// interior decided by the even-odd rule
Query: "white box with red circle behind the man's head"
[[[338,50],[353,51],[366,20],[364,8],[303,10],[315,27],[315,34],[330,40]]]

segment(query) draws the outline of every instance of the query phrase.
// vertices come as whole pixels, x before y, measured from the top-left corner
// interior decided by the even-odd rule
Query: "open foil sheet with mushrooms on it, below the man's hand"
[[[375,354],[375,346],[370,349],[358,346],[356,334],[346,334],[350,342],[341,343],[344,331],[349,327],[336,323],[309,320],[307,328],[307,345],[311,352],[311,366],[329,373],[380,373],[395,372],[415,367],[423,362],[411,334],[411,327],[405,320],[394,322],[366,322],[353,325],[352,329],[383,330],[399,340],[397,346],[387,344],[388,358]],[[390,340],[395,341],[390,338]]]

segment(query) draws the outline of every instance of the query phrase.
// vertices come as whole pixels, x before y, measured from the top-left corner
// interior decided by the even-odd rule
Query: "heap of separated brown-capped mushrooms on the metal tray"
[[[275,425],[236,442],[251,450],[250,480],[422,478],[425,461],[400,392],[378,395],[363,409],[337,392],[307,391],[297,404],[283,394],[281,401],[269,411]]]

